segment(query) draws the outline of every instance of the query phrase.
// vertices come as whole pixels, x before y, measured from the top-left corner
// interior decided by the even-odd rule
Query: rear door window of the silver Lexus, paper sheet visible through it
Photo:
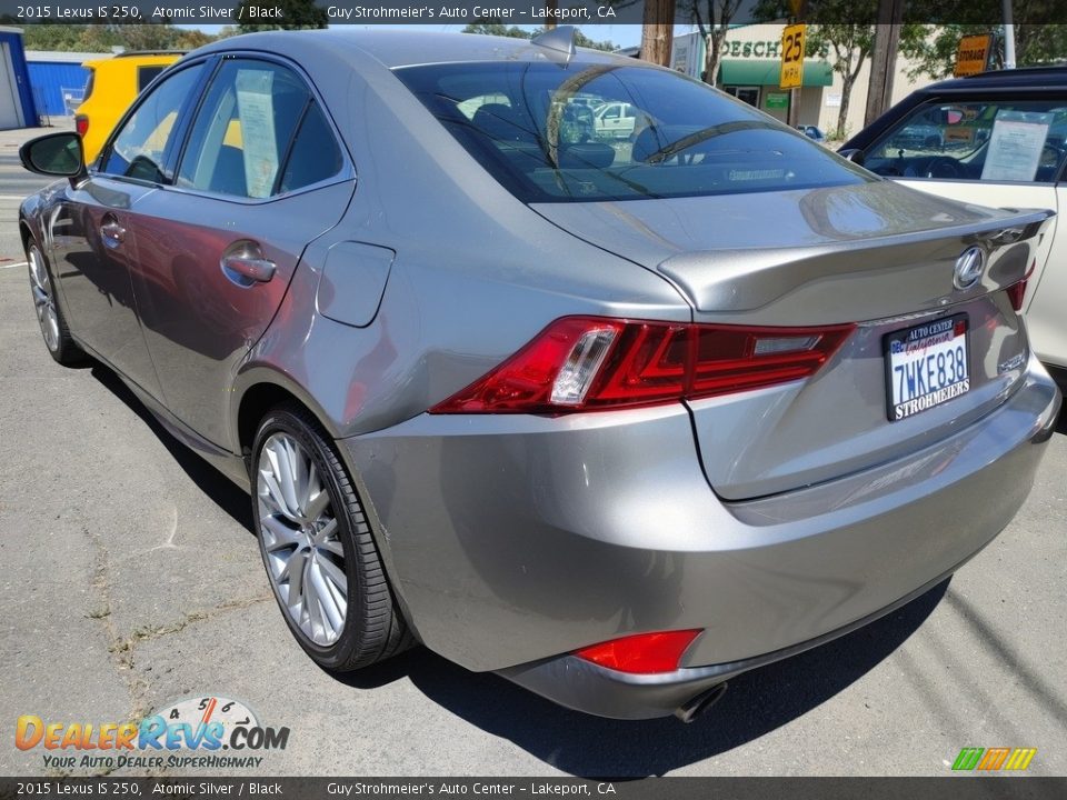
[[[320,153],[326,166],[308,164],[311,157],[301,153],[305,163],[295,169],[301,176],[321,174],[333,164],[337,146],[332,136],[329,144],[323,143],[321,112],[305,82],[280,64],[227,61],[197,112],[176,182],[216,194],[269,198],[281,190],[290,143],[301,122],[305,139],[327,148]],[[302,144],[301,149],[309,146],[313,147]],[[305,178],[289,177],[287,189],[295,188],[295,180]]]

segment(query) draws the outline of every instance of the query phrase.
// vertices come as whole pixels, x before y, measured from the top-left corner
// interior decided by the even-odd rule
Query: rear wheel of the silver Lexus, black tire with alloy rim
[[[263,418],[251,481],[270,587],[311,659],[346,672],[410,647],[362,503],[310,413],[281,406]]]

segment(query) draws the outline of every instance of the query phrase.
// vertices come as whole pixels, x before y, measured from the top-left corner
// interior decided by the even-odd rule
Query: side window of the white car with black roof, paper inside
[[[1067,100],[933,102],[867,148],[878,174],[1050,183],[1064,163]]]

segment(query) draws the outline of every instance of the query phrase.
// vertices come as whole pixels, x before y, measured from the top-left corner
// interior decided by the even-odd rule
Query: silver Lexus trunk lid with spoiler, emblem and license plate
[[[705,472],[731,500],[900,458],[1003,403],[1029,352],[1004,290],[1025,277],[1053,216],[946,202],[884,181],[536,210],[670,280],[696,322],[856,324],[807,380],[689,401]],[[959,288],[958,264],[974,249],[980,277]],[[966,381],[935,396],[914,384],[914,363],[909,374],[895,372],[909,364],[889,350],[928,347],[936,368],[938,337],[956,342],[944,347],[966,341]],[[895,396],[893,382],[908,380]],[[895,419],[903,398],[914,402]]]

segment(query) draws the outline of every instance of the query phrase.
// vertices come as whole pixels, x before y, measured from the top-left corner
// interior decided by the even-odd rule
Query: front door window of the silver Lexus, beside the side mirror
[[[164,156],[172,141],[178,113],[200,79],[202,64],[176,72],[156,87],[114,137],[101,172],[153,183],[168,182]]]

